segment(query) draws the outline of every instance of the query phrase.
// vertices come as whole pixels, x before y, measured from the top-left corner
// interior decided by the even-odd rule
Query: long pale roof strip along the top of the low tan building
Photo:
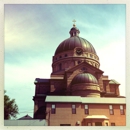
[[[59,103],[93,103],[93,104],[126,104],[125,98],[80,97],[80,96],[47,96],[45,102]]]

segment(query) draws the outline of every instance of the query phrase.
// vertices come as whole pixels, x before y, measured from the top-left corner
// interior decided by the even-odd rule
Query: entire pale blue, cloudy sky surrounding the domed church
[[[4,89],[15,99],[20,118],[33,117],[35,78],[50,78],[52,56],[69,38],[76,20],[79,36],[88,40],[100,69],[120,85],[125,96],[126,6],[123,4],[5,4]]]

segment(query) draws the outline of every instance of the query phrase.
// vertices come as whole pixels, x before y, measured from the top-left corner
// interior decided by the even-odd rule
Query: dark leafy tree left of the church
[[[6,93],[6,91],[4,92]],[[10,99],[9,96],[4,94],[4,119],[16,118],[18,114],[18,106],[15,99]]]

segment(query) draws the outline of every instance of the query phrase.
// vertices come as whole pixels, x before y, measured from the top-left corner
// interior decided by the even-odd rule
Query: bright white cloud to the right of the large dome
[[[108,75],[109,79],[117,80],[120,85],[120,94],[125,96],[125,41],[116,41],[107,45],[103,49],[98,50],[100,58],[100,69],[104,71],[104,75]]]

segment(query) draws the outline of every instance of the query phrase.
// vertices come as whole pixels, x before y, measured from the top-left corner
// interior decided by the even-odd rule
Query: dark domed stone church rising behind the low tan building
[[[84,98],[121,97],[119,83],[100,70],[93,45],[80,37],[75,23],[70,37],[63,40],[53,56],[50,79],[35,79],[34,118],[46,118],[47,96],[80,96]]]

